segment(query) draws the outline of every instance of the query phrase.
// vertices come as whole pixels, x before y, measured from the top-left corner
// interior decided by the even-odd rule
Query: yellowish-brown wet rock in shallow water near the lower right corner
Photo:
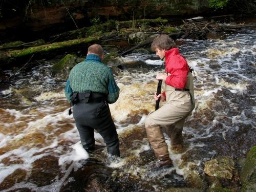
[[[219,156],[205,162],[204,172],[209,176],[231,179],[233,177],[234,162],[229,156]]]

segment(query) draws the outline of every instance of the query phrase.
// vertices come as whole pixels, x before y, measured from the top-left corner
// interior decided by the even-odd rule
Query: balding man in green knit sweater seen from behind
[[[118,134],[108,105],[118,99],[119,88],[111,69],[101,62],[102,58],[102,47],[91,45],[86,59],[70,71],[65,95],[73,104],[83,148],[94,151],[96,130],[103,137],[108,153],[120,156]]]

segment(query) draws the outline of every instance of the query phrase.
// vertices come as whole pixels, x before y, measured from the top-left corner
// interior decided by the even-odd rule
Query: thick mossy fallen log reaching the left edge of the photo
[[[74,39],[62,42],[54,42],[37,47],[30,47],[22,50],[12,50],[0,52],[0,68],[5,69],[10,67],[12,63],[16,66],[22,65],[24,60],[29,59],[34,55],[33,59],[53,58],[56,55],[64,54],[65,52],[86,51],[88,46],[98,40],[96,37],[88,37]],[[22,61],[22,62],[20,62]],[[20,64],[18,64],[20,62]]]

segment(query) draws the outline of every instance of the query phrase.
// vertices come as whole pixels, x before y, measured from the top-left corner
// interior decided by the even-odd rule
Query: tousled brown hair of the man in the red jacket
[[[157,48],[160,50],[169,50],[175,47],[175,42],[166,34],[157,36],[151,44],[152,51],[156,51]]]

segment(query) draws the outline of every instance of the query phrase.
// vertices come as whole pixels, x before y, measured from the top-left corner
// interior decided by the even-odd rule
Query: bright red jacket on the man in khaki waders
[[[178,48],[173,48],[165,53],[165,72],[170,73],[165,79],[168,86],[184,89],[187,82],[189,67],[187,61],[181,56]]]

